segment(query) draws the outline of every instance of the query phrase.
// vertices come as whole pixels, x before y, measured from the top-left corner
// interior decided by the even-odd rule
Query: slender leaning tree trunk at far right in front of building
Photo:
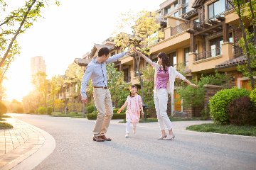
[[[255,79],[253,78],[252,68],[250,67],[250,64],[251,64],[250,51],[249,51],[249,46],[248,46],[248,42],[247,42],[247,39],[246,39],[245,26],[242,23],[242,14],[241,14],[240,4],[238,4],[238,17],[239,17],[239,25],[242,29],[242,38],[245,41],[245,50],[246,50],[246,57],[247,57],[247,69],[248,69],[248,72],[249,72],[249,75],[250,75],[249,78],[250,78],[250,81],[251,81],[252,89],[254,89],[255,88]]]

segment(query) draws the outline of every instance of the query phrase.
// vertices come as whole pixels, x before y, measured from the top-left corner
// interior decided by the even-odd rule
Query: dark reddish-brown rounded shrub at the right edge
[[[231,101],[227,113],[228,120],[233,125],[256,125],[256,107],[247,96]]]

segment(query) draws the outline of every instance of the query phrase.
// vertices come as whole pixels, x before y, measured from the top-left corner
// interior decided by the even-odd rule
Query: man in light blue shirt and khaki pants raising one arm
[[[117,61],[119,58],[127,55],[129,51],[122,52],[109,58],[110,50],[102,47],[98,52],[98,57],[92,59],[85,69],[82,78],[81,96],[82,103],[87,103],[86,87],[89,79],[92,79],[93,97],[97,111],[97,120],[93,130],[93,140],[97,142],[111,141],[111,138],[105,136],[110,120],[113,116],[112,100],[110,90],[107,88],[107,64]]]

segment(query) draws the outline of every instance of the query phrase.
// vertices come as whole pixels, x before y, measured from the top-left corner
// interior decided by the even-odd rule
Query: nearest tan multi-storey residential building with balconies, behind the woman
[[[159,52],[166,52],[171,65],[185,67],[188,79],[199,79],[201,74],[218,70],[230,75],[231,86],[248,87],[248,78],[237,71],[237,65],[245,63],[245,56],[238,46],[242,33],[234,9],[226,0],[185,1],[188,9],[181,9],[184,8],[179,6],[181,2],[184,1],[177,4],[167,0],[160,5],[159,16],[166,19],[167,26],[164,40],[151,45],[151,57],[154,59]],[[176,12],[178,14],[174,14]],[[250,30],[250,21],[245,23]],[[171,98],[171,113],[198,115],[196,110],[183,110],[182,101],[174,102],[174,98],[178,98],[176,93]]]

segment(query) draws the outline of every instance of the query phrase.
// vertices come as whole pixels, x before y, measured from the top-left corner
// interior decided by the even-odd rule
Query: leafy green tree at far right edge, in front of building
[[[238,70],[249,77],[251,81],[252,89],[255,88],[255,79],[253,76],[256,74],[253,69],[256,69],[256,26],[255,26],[255,0],[247,3],[246,0],[228,0],[228,3],[235,8],[239,17],[239,26],[242,30],[242,38],[240,40],[240,46],[245,52],[247,61],[244,66],[238,66]],[[247,11],[247,12],[246,12]],[[253,33],[250,33],[245,28],[245,17],[252,20]],[[253,40],[255,42],[253,42]]]

